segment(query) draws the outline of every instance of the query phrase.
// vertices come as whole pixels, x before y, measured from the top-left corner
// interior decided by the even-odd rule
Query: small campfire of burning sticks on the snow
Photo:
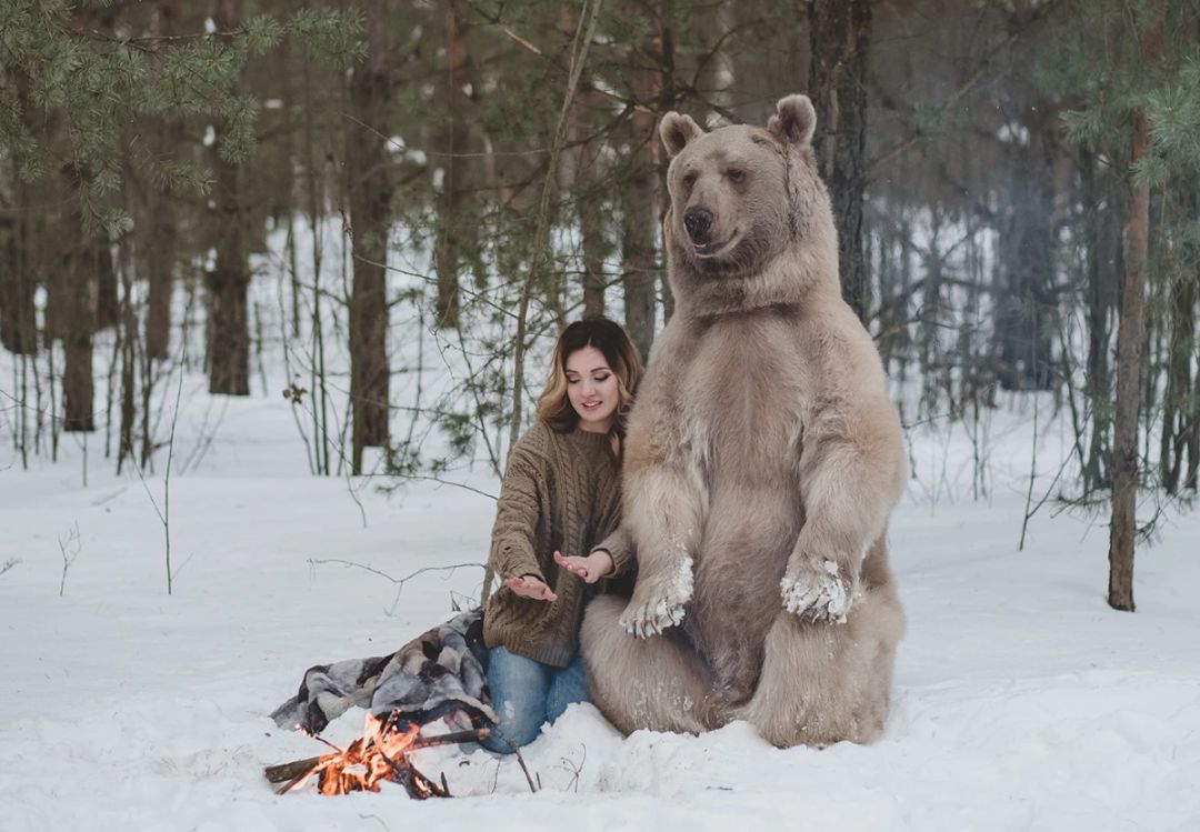
[[[445,776],[440,783],[426,777],[408,760],[408,755],[420,748],[444,746],[456,742],[479,742],[488,736],[486,728],[472,731],[456,731],[433,736],[421,736],[421,725],[403,723],[398,713],[386,719],[367,715],[362,736],[344,749],[310,734],[316,740],[334,748],[330,754],[295,760],[278,766],[269,766],[266,779],[271,783],[284,783],[277,794],[302,789],[313,777],[317,778],[317,791],[323,795],[346,795],[352,791],[379,791],[384,780],[404,786],[409,797],[425,800],[427,797],[449,797],[450,786]]]

